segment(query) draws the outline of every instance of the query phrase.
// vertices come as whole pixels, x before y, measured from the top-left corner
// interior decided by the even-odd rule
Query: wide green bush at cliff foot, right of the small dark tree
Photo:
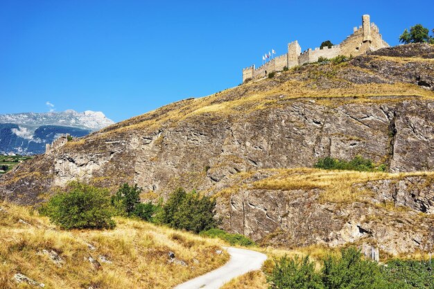
[[[196,191],[186,193],[184,189],[175,190],[166,204],[157,213],[155,221],[175,229],[200,231],[216,227],[214,219],[216,200],[200,196]]]

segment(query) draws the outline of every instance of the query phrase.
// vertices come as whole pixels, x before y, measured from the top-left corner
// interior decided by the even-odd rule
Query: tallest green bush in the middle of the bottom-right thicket
[[[361,259],[355,248],[342,249],[340,258],[328,256],[322,268],[325,289],[379,289],[381,272],[379,266]]]

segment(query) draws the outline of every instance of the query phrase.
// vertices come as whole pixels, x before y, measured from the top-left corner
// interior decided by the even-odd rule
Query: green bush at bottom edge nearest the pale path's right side
[[[309,256],[289,258],[284,256],[275,261],[275,268],[267,276],[271,289],[323,289],[321,277]]]

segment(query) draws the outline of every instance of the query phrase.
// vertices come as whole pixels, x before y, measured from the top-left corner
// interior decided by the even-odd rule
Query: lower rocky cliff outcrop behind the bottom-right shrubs
[[[434,247],[434,173],[383,175],[383,179],[354,173],[354,181],[345,188],[338,184],[340,177],[331,176],[331,189],[309,189],[302,182],[299,188],[293,184],[288,189],[272,184],[277,172],[260,171],[227,182],[225,191],[231,193],[221,196],[218,204],[225,229],[284,247],[370,244],[388,254]],[[297,174],[310,174],[319,183],[324,177],[321,170],[292,170],[281,173],[283,179],[274,177],[274,182]],[[328,197],[346,190],[351,193],[342,198]]]

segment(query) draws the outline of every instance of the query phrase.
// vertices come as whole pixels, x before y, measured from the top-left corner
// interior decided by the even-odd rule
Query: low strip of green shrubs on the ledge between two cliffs
[[[370,159],[365,159],[360,155],[356,155],[351,161],[334,159],[333,157],[324,157],[318,159],[314,165],[315,168],[324,170],[359,170],[359,171],[385,171],[385,164],[376,166]]]

